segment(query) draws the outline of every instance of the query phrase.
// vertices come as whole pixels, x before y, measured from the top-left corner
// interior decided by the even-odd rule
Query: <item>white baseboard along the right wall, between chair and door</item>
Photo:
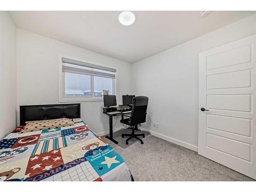
[[[159,137],[163,140],[166,140],[166,141],[169,141],[169,142],[172,142],[172,143],[175,143],[177,145],[180,145],[180,146],[183,146],[183,147],[186,147],[188,148],[189,150],[193,150],[195,152],[198,152],[198,147],[196,145],[192,145],[192,144],[189,144],[189,143],[186,143],[184,141],[180,141],[178,139],[174,139],[172,137],[168,137],[168,136],[165,136],[165,135],[162,135],[160,133],[157,133],[157,132],[153,132],[151,130],[147,130],[147,129],[144,129],[143,127],[139,127],[141,130],[144,130],[144,131],[148,131],[151,133],[151,135],[154,135],[156,137]]]

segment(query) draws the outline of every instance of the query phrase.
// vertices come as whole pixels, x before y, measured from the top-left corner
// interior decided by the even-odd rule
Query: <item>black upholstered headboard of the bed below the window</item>
[[[20,125],[25,125],[25,121],[80,118],[80,103],[23,105],[19,106],[19,117]]]

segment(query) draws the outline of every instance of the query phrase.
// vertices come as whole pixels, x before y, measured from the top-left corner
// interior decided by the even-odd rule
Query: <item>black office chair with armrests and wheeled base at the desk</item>
[[[133,108],[130,115],[122,115],[122,119],[120,120],[121,123],[130,125],[133,129],[132,134],[122,134],[122,138],[124,136],[130,136],[128,139],[126,139],[126,144],[128,144],[128,141],[132,138],[136,138],[140,141],[141,144],[143,144],[143,141],[138,136],[145,137],[145,134],[134,134],[134,130],[138,129],[138,124],[146,122],[146,108],[148,103],[148,97],[145,96],[137,96],[133,98]],[[124,119],[123,117],[129,117]]]

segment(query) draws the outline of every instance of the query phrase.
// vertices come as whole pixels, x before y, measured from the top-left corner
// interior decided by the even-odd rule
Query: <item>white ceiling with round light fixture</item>
[[[133,11],[123,26],[121,11],[10,11],[18,28],[135,62],[255,14],[255,11]]]

